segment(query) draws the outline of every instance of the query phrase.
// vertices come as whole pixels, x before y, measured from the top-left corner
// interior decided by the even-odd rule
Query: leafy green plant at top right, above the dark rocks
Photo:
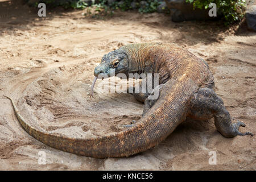
[[[218,15],[224,17],[225,24],[240,21],[245,13],[245,0],[186,0],[194,8],[208,9],[210,3],[216,3]]]

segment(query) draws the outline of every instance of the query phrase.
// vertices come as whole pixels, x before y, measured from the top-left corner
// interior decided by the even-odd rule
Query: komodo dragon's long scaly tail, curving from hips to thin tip
[[[171,84],[171,89],[168,82]],[[25,122],[14,101],[10,97],[5,97],[9,98],[13,104],[14,113],[24,130],[40,142],[59,150],[94,158],[121,157],[137,154],[156,146],[170,135],[180,122],[184,121],[188,101],[193,92],[191,84],[171,82],[171,80],[168,82],[156,104],[133,127],[116,134],[87,139],[68,138],[61,134],[49,134],[35,129]]]

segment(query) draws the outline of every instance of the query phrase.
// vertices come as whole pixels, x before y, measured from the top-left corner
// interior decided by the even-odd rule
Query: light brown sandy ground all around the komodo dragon
[[[62,11],[38,18],[20,1],[0,1],[0,96],[14,98],[31,125],[69,137],[118,131],[141,118],[143,105],[129,94],[88,93],[93,69],[119,46],[174,42],[205,59],[217,94],[240,130],[256,133],[256,34],[245,26],[226,30],[216,23],[173,23],[162,14],[117,13],[86,18],[84,11]],[[0,169],[21,170],[255,170],[255,137],[224,138],[213,119],[185,121],[158,146],[129,158],[94,159],[55,150],[19,125],[10,101],[0,97]],[[38,164],[39,151],[46,164]],[[208,155],[216,151],[217,164]]]

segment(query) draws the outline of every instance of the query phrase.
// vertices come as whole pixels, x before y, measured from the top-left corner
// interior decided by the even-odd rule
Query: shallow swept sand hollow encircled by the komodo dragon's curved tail
[[[24,90],[18,101],[20,114],[36,129],[70,138],[113,134],[125,129],[119,125],[141,118],[143,105],[127,94],[116,97],[96,87],[94,98],[90,98],[84,76],[83,65],[44,73]]]

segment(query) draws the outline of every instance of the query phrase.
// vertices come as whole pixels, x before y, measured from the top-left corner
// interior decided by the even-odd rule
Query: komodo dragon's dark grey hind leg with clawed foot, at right
[[[237,135],[253,135],[253,133],[241,133],[240,126],[245,127],[245,123],[237,121],[232,123],[230,114],[226,110],[220,97],[209,88],[200,88],[192,99],[192,108],[188,117],[193,119],[210,119],[214,117],[214,125],[224,137],[236,137]]]

